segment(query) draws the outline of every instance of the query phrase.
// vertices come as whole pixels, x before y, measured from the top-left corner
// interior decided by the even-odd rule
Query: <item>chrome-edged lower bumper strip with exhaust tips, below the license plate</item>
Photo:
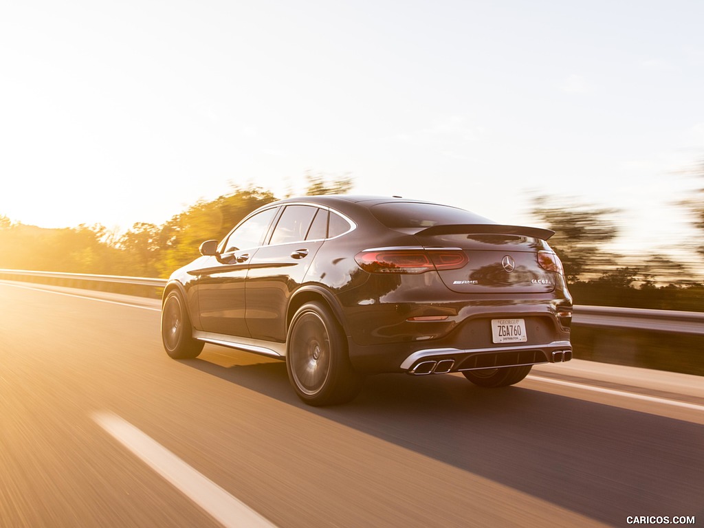
[[[428,348],[410,354],[401,370],[413,375],[446,374],[463,370],[562,363],[572,359],[570,341],[501,348]]]

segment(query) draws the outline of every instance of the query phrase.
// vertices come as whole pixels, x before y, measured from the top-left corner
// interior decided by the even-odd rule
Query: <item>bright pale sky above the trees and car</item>
[[[0,8],[0,215],[161,224],[306,173],[526,223],[623,210],[691,232],[704,182],[704,2],[77,1]],[[535,223],[535,222],[532,222]]]

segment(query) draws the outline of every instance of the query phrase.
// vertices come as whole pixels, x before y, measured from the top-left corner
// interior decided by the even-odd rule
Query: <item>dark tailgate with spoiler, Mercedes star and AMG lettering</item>
[[[458,248],[463,268],[439,270],[449,289],[468,294],[541,294],[555,289],[555,272],[541,268],[539,251],[552,232],[497,224],[437,225],[417,232],[420,245],[432,251]]]

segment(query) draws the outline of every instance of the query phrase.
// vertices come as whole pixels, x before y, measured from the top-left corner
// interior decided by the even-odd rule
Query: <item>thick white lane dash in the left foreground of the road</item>
[[[218,484],[194,470],[167,448],[113,413],[95,413],[93,419],[154,471],[215,517],[227,528],[275,528]]]

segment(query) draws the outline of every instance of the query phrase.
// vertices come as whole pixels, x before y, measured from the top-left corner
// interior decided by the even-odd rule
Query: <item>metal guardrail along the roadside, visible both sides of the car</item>
[[[51,271],[0,269],[0,277],[40,277],[93,282],[116,282],[137,286],[165,287],[166,279],[128,277],[123,275],[89,275]],[[19,278],[18,280],[21,280]],[[572,323],[601,328],[631,328],[672,332],[674,334],[704,335],[704,313],[674,310],[646,310],[643,308],[615,308],[610,306],[574,306]]]

